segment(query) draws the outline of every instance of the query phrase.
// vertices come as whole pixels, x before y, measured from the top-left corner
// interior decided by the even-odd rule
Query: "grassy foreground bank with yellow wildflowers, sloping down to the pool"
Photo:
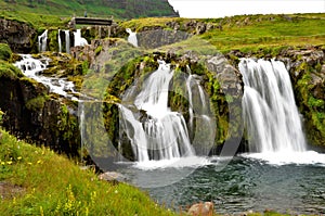
[[[104,182],[49,149],[0,134],[0,182],[22,189],[0,199],[1,215],[174,215],[139,189]]]

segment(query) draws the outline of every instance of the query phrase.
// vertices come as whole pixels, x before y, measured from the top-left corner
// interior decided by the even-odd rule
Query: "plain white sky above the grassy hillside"
[[[181,17],[325,13],[325,0],[169,0]]]

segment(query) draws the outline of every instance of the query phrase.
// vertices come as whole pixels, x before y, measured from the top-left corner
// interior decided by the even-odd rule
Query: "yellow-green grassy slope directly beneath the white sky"
[[[170,29],[166,25],[167,23],[178,23],[180,30],[195,34],[195,28],[188,30],[184,27],[190,22],[191,20],[185,18],[141,18],[128,21],[121,25],[142,31],[151,26]],[[195,22],[214,26],[213,29],[195,37],[208,41],[221,52],[235,49],[245,52],[259,49],[268,51],[269,49],[288,46],[325,45],[325,13],[237,15],[223,18],[195,20]],[[193,42],[188,42],[190,47],[191,43]]]

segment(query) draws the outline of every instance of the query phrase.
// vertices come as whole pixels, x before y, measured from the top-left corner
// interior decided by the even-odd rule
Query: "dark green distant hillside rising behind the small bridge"
[[[179,16],[168,0],[1,0],[0,10],[61,16]]]

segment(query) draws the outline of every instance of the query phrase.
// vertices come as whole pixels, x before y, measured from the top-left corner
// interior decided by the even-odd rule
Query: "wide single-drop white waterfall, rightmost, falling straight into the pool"
[[[303,152],[306,141],[290,77],[280,61],[242,59],[244,120],[253,151]]]

